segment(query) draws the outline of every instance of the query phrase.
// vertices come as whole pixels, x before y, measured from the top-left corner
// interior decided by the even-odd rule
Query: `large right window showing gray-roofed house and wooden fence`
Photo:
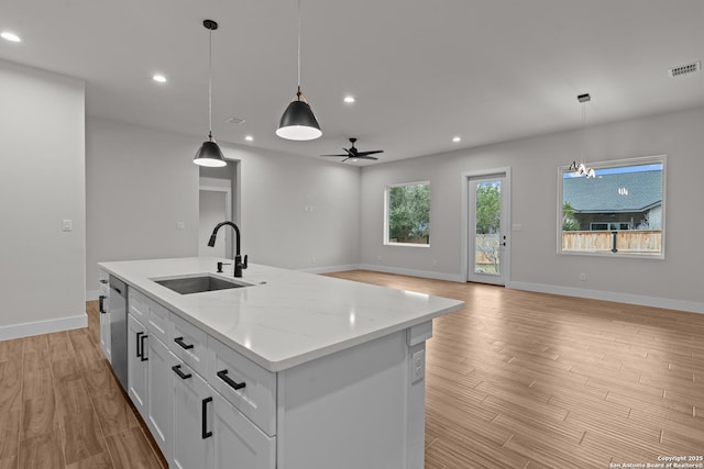
[[[664,258],[666,157],[559,168],[558,253]]]

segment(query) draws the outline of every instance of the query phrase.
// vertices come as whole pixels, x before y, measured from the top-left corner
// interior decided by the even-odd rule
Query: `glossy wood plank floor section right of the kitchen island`
[[[330,276],[466,304],[433,322],[427,345],[426,469],[645,467],[704,455],[704,314]]]

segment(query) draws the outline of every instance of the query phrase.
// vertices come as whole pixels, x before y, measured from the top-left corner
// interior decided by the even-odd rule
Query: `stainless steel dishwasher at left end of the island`
[[[112,370],[128,391],[128,286],[110,276],[110,347]]]

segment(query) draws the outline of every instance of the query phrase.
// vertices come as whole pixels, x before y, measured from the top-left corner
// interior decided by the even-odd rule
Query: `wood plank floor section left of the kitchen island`
[[[88,327],[0,342],[0,469],[165,469]]]

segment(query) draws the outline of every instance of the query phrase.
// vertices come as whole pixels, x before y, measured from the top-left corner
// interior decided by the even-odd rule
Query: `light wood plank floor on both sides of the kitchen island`
[[[330,276],[466,303],[436,320],[428,342],[426,469],[601,469],[704,454],[702,314]],[[97,302],[87,311],[88,328],[0,342],[0,469],[166,467],[102,359]]]

